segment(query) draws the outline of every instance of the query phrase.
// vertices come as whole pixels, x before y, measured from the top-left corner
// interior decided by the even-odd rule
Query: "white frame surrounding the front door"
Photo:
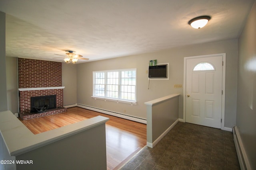
[[[212,54],[212,55],[200,55],[200,56],[193,56],[193,57],[184,57],[184,82],[183,82],[183,122],[186,122],[186,70],[187,59],[198,59],[198,58],[205,58],[205,57],[216,57],[222,56],[223,67],[222,67],[222,107],[221,107],[221,129],[224,130],[224,113],[225,113],[225,79],[226,79],[226,53],[221,54]]]

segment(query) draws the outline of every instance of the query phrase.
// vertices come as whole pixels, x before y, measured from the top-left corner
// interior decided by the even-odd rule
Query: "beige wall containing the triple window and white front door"
[[[146,119],[144,102],[169,94],[180,93],[179,118],[183,119],[183,88],[174,88],[174,84],[183,84],[184,57],[217,53],[226,53],[224,126],[231,128],[236,123],[237,40],[177,47],[154,53],[77,64],[77,103]],[[152,80],[148,89],[148,74],[146,74],[146,70],[148,70],[148,62],[152,59],[157,59],[158,63],[170,63],[170,79]],[[124,68],[137,68],[137,105],[117,104],[116,102],[105,102],[91,98],[93,71]]]

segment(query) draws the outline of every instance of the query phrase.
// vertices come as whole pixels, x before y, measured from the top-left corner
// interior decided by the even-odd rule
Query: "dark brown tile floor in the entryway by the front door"
[[[121,170],[240,170],[233,134],[178,122],[153,148],[144,147]]]

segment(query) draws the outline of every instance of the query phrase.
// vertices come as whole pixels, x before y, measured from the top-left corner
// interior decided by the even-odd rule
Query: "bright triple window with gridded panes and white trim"
[[[93,96],[136,102],[136,68],[93,72]]]

